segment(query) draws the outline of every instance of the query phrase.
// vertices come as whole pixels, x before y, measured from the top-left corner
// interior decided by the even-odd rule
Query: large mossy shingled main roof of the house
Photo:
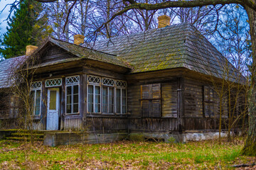
[[[239,74],[190,23],[102,40],[95,49],[122,57],[132,73],[185,67],[219,78],[227,75],[225,68],[229,77]]]

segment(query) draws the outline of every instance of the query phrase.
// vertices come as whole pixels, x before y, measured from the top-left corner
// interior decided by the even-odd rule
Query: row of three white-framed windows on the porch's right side
[[[106,77],[87,77],[87,112],[119,113],[127,112],[126,81]]]

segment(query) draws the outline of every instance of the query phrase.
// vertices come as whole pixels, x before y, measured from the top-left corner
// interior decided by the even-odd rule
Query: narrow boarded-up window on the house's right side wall
[[[209,86],[203,86],[204,115],[206,118],[214,115],[213,108],[213,89]]]

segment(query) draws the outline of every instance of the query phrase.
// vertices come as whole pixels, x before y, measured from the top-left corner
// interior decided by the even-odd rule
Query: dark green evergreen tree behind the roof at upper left
[[[24,55],[26,45],[38,45],[40,40],[51,33],[50,26],[47,26],[48,18],[41,16],[42,4],[24,0],[21,2],[14,16],[7,22],[7,32],[1,39],[1,55],[5,58]]]

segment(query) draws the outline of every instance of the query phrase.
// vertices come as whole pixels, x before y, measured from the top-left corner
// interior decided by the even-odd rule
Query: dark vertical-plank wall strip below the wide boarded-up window
[[[129,118],[129,130],[171,132],[178,131],[177,118]]]

